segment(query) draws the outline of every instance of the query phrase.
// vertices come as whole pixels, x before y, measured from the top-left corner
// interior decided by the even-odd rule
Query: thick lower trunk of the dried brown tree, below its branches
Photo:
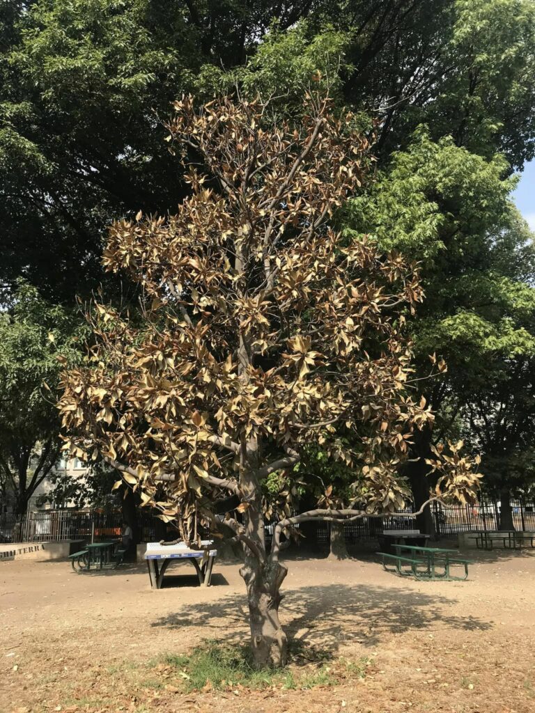
[[[287,637],[279,621],[280,585],[286,573],[279,563],[263,565],[250,555],[240,569],[247,586],[251,649],[258,668],[277,668],[287,662]]]

